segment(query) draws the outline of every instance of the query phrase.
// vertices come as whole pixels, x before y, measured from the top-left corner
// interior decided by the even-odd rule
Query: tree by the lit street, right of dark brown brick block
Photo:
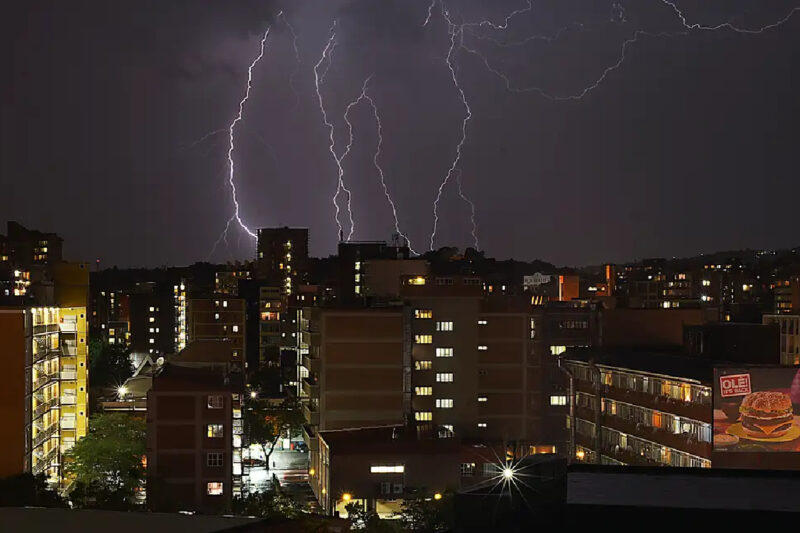
[[[244,412],[244,431],[250,444],[257,444],[267,461],[275,450],[281,435],[297,433],[303,427],[305,419],[300,405],[293,398],[286,398],[276,407],[268,400],[251,399]]]

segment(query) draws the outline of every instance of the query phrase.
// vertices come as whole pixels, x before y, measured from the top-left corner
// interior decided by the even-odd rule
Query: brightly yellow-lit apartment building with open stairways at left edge
[[[87,432],[86,309],[0,309],[0,343],[0,477],[31,472],[65,485],[62,456]]]

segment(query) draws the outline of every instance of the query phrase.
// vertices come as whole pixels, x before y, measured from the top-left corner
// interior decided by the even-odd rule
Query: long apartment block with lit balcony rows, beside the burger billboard
[[[711,359],[571,349],[571,457],[612,465],[710,467]]]

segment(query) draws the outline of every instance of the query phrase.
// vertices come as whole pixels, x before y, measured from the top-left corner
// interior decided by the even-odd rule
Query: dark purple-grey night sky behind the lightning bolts
[[[525,7],[446,3],[458,24],[499,25]],[[401,229],[427,249],[433,201],[465,113],[445,62],[450,37],[438,5],[423,27],[428,0],[17,4],[4,5],[0,22],[0,223],[55,231],[68,259],[101,258],[103,266],[208,259],[233,208],[227,127],[272,25],[235,130],[241,217],[253,228],[308,227],[314,255],[334,252],[337,172],[314,65],[336,19],[321,91],[337,150],[347,141],[345,106],[373,75],[387,186]],[[509,92],[479,57],[456,48],[473,114],[458,168],[481,247],[501,258],[577,265],[800,244],[800,12],[751,35],[688,31],[660,0],[621,4],[535,1],[506,30],[465,33],[465,45],[515,87],[556,95],[592,85],[637,30],[672,34],[639,35],[620,67],[579,100]],[[690,24],[758,28],[800,2],[677,5]],[[280,9],[296,32],[299,64],[291,32],[276,19]],[[558,38],[515,45],[531,35]],[[351,118],[344,180],[354,239],[388,239],[394,223],[373,166],[371,110],[360,105]],[[470,209],[454,179],[439,213],[436,245],[470,245]],[[244,259],[253,250],[234,225],[210,258]]]

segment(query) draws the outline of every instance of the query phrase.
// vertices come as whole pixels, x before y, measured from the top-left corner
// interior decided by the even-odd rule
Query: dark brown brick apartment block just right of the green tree
[[[167,364],[147,395],[148,505],[219,513],[242,492],[241,374]]]

